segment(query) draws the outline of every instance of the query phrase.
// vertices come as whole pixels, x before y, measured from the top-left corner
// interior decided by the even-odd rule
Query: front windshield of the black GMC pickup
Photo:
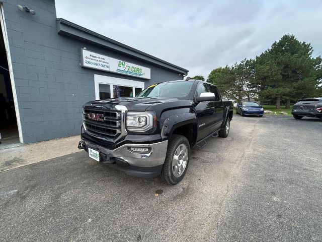
[[[163,82],[153,84],[136,97],[177,97],[183,98],[189,95],[193,82]]]

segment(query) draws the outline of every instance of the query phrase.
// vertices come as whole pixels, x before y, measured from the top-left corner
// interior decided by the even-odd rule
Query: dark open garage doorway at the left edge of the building
[[[7,51],[5,45],[4,21],[2,6],[0,5],[0,149],[8,148],[19,142],[17,116],[14,95],[11,85]]]

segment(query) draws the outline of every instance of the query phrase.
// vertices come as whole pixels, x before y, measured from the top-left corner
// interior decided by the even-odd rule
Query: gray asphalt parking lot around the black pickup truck
[[[321,145],[318,119],[234,115],[176,186],[84,151],[0,172],[0,240],[322,241]]]

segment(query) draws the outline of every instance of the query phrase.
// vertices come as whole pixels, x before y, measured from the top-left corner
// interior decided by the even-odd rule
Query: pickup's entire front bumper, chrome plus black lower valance
[[[152,144],[124,144],[116,149],[99,146],[86,139],[79,144],[88,152],[92,148],[100,152],[103,164],[122,170],[129,175],[140,177],[154,177],[160,174],[165,162],[168,140]],[[148,153],[134,153],[129,148],[149,148]]]

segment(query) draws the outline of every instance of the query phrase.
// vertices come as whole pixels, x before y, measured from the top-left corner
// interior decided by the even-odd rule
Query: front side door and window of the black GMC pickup
[[[199,83],[196,90],[196,97],[201,93],[209,92],[206,83]],[[198,140],[209,135],[214,131],[215,124],[215,107],[213,101],[200,102],[195,107],[198,116]]]

